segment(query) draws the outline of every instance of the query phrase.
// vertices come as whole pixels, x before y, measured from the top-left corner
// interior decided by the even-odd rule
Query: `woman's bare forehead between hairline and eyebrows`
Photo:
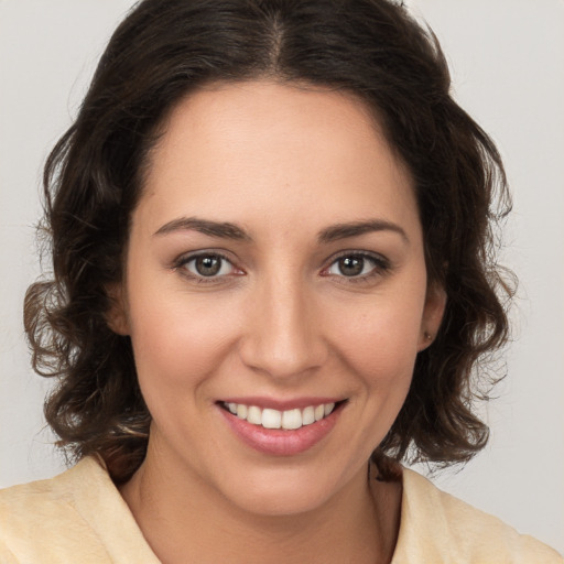
[[[398,221],[415,210],[410,174],[373,112],[343,91],[265,80],[202,88],[171,112],[150,161],[137,215],[151,228],[181,214],[313,229],[316,219]]]

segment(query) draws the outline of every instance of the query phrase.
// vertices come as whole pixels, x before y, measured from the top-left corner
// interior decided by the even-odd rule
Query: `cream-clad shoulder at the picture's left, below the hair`
[[[142,562],[154,562],[127,505],[95,458],[55,478],[0,491],[2,563],[128,562],[122,555],[130,547],[130,555],[144,551],[149,556]]]

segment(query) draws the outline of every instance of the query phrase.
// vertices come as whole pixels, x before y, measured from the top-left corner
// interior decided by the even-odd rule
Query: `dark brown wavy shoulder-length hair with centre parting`
[[[42,232],[53,274],[25,296],[33,366],[56,378],[45,414],[57,444],[70,459],[99,454],[117,482],[141,464],[151,415],[130,339],[106,315],[148,155],[195,88],[263,77],[360,97],[408,165],[429,280],[447,304],[373,458],[383,478],[390,460],[468,460],[488,438],[471,408],[508,338],[511,286],[494,227],[510,199],[495,144],[451,97],[435,36],[390,0],[144,0],[119,25],[46,162]]]

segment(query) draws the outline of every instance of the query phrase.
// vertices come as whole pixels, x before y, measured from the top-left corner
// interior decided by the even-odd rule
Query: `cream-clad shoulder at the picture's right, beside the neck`
[[[403,470],[400,534],[393,564],[404,562],[563,564],[558,553],[500,519]]]

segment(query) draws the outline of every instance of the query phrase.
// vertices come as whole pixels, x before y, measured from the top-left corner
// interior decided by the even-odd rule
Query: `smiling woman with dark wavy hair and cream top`
[[[503,171],[448,86],[389,2],[135,8],[47,162],[25,304],[80,462],[2,495],[2,562],[560,561],[399,465],[484,447],[507,337]]]

